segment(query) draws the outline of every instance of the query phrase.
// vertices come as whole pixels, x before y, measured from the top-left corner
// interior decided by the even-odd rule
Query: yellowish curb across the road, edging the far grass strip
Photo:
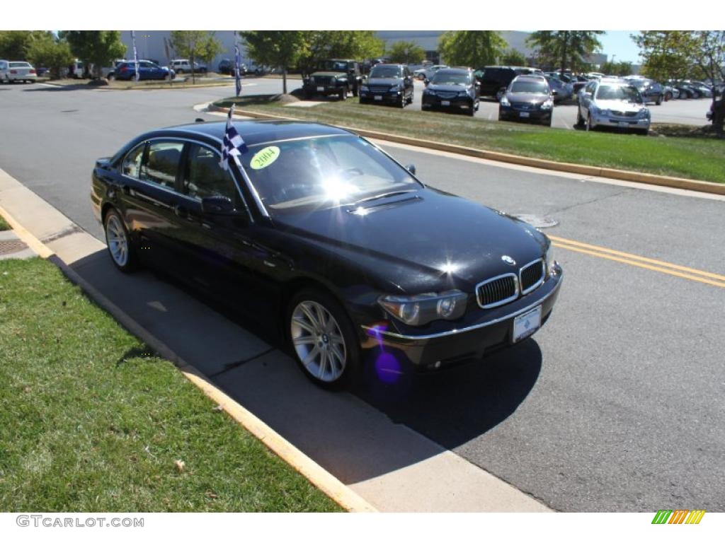
[[[228,108],[215,106],[210,104],[209,109],[212,111],[229,111]],[[279,115],[270,115],[267,113],[259,113],[257,111],[248,111],[245,109],[235,109],[234,112],[243,117],[254,117],[255,119],[279,119],[279,120],[299,120],[292,117],[281,117]],[[486,159],[499,162],[507,162],[508,164],[518,164],[520,166],[530,166],[534,168],[552,169],[558,172],[569,172],[573,174],[587,175],[591,177],[608,177],[609,179],[617,179],[623,181],[634,181],[645,183],[647,185],[660,185],[661,187],[681,188],[684,190],[695,190],[700,193],[710,193],[725,195],[725,183],[715,183],[710,181],[697,181],[692,179],[684,179],[684,177],[669,177],[666,175],[646,174],[643,172],[631,172],[624,169],[605,168],[597,166],[587,166],[585,164],[571,164],[569,162],[556,162],[546,159],[534,159],[528,156],[519,156],[509,153],[500,153],[499,151],[484,151],[473,147],[457,146],[452,143],[442,143],[439,141],[419,140],[416,138],[408,138],[407,136],[389,134],[388,132],[376,132],[375,130],[365,130],[361,128],[350,128],[336,125],[344,130],[350,130],[356,134],[360,134],[365,138],[374,138],[377,140],[392,141],[395,143],[403,143],[409,146],[423,147],[433,149],[434,151],[447,151],[448,153],[456,153],[465,156],[473,156],[477,159]]]

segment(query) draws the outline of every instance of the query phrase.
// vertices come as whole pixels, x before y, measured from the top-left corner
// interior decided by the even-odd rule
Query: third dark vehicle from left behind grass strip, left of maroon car
[[[421,109],[464,111],[473,117],[479,110],[479,83],[468,68],[442,68],[426,80]]]

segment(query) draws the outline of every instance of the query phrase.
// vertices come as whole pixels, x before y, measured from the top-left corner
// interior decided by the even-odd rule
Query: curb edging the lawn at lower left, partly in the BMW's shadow
[[[183,376],[193,383],[204,395],[212,401],[221,405],[231,418],[237,423],[244,426],[244,429],[257,437],[268,449],[278,455],[284,462],[289,464],[297,473],[305,477],[310,483],[315,485],[320,491],[324,492],[328,497],[336,502],[341,508],[351,513],[374,513],[376,508],[366,502],[360,495],[349,489],[332,473],[320,466],[315,460],[312,460],[304,452],[292,445],[284,439],[280,434],[275,432],[262,419],[255,416],[252,412],[247,411],[241,404],[233,400],[233,398],[222,392],[215,384],[207,380],[206,376],[199,370],[183,361],[176,353],[173,352],[164,342],[157,340],[152,334],[141,327],[136,321],[128,316],[123,309],[116,306],[111,300],[106,298],[93,285],[90,285],[86,279],[80,277],[70,266],[67,266],[54,251],[51,251],[41,240],[38,240],[33,234],[28,232],[25,227],[15,220],[5,209],[0,207],[0,214],[7,220],[12,230],[17,233],[33,251],[39,256],[46,258],[70,279],[75,285],[78,285],[83,292],[86,292],[89,298],[94,300],[104,311],[107,311],[121,326],[128,330],[131,334],[144,341],[156,353],[163,358],[173,362],[176,368],[181,371]]]

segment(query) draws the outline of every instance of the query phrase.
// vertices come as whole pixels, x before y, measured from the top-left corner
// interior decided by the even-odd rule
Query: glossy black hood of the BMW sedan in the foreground
[[[477,283],[516,272],[546,250],[546,237],[528,224],[430,188],[363,205],[365,214],[343,206],[274,221],[300,243],[363,266],[398,292],[473,292]]]

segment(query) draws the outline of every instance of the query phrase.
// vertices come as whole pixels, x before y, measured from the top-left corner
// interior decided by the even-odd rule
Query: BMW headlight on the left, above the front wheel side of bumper
[[[390,295],[378,299],[385,311],[411,326],[421,326],[436,319],[455,320],[465,312],[467,301],[468,295],[460,290],[415,296]]]

